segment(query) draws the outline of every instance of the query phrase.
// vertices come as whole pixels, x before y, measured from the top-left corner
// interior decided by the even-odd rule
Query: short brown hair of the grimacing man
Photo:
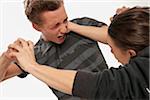
[[[62,0],[25,0],[25,14],[32,23],[41,25],[41,13],[55,11],[61,7],[62,3]]]

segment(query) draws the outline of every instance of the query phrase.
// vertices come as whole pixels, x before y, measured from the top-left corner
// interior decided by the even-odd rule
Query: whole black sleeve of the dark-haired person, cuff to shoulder
[[[131,62],[119,68],[105,69],[91,73],[78,71],[74,80],[72,94],[90,99],[148,98],[148,82],[139,63]],[[147,72],[148,73],[148,72]],[[144,74],[144,75],[143,75]],[[136,99],[137,100],[137,99]]]

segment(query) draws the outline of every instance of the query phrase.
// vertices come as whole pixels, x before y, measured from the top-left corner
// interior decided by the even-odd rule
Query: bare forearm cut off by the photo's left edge
[[[0,57],[0,81],[4,79],[7,68],[10,64],[11,61],[5,55],[2,54],[2,56]]]

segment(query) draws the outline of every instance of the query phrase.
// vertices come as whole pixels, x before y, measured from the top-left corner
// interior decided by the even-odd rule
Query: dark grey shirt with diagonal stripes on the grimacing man
[[[97,27],[106,25],[86,17],[74,19],[72,22]],[[68,33],[61,45],[40,39],[35,46],[35,56],[38,63],[59,69],[98,72],[107,68],[97,42],[74,32]],[[59,100],[87,100],[52,90]]]

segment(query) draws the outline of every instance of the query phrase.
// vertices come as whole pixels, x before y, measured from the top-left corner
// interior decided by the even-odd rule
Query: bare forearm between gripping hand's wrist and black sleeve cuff
[[[55,69],[44,65],[32,65],[28,72],[52,88],[72,94],[76,71]]]

